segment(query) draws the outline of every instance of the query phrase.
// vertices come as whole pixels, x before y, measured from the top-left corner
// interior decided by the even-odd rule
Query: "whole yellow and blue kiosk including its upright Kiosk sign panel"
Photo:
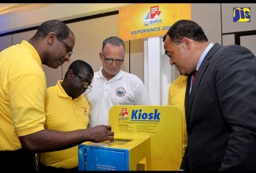
[[[171,105],[116,105],[113,142],[79,145],[79,171],[179,171],[182,114]]]

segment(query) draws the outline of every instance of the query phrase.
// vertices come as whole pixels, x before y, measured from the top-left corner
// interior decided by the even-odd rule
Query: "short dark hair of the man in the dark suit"
[[[184,38],[192,39],[195,42],[208,42],[202,28],[192,20],[176,21],[163,37],[163,42],[165,42],[167,35],[169,35],[170,41],[176,44],[180,44]]]

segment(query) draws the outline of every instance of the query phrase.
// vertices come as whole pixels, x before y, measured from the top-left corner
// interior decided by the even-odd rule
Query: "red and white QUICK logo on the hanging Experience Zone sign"
[[[161,19],[158,19],[161,15],[161,10],[159,10],[159,6],[151,6],[150,12],[147,13],[145,17],[145,23],[144,25],[150,25],[150,24],[158,24],[161,23]]]

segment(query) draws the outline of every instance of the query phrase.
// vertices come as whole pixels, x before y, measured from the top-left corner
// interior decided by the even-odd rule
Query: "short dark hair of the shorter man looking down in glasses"
[[[91,65],[88,64],[87,62],[83,61],[83,60],[73,61],[69,65],[69,69],[72,69],[72,71],[75,72],[76,74],[80,74],[83,71],[87,71],[91,75],[94,75],[94,71],[91,68]],[[69,69],[68,69],[68,71],[69,71]],[[65,77],[68,75],[68,71],[65,73]]]

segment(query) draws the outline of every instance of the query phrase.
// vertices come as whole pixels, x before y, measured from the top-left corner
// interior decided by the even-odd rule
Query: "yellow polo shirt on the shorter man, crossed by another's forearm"
[[[61,86],[46,89],[46,129],[75,131],[86,129],[89,123],[90,106],[83,94],[72,100]],[[41,163],[46,166],[73,168],[78,167],[78,146],[61,151],[41,153]]]

